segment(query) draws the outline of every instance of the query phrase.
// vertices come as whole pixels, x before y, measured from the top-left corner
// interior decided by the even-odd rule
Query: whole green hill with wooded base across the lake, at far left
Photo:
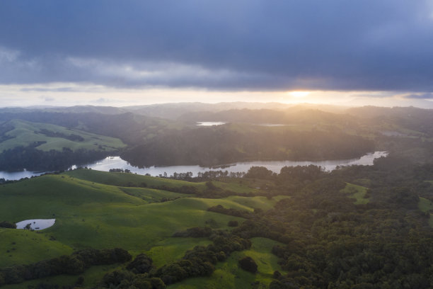
[[[0,124],[1,171],[59,171],[115,154],[117,138],[48,123],[8,120]]]

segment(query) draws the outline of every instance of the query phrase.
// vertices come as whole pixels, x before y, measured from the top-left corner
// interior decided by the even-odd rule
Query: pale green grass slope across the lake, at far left
[[[3,152],[4,149],[12,149],[18,146],[26,147],[33,144],[33,142],[45,142],[36,147],[42,151],[50,151],[51,149],[61,151],[63,147],[67,147],[73,151],[77,149],[88,149],[110,152],[126,146],[121,140],[113,137],[105,137],[81,130],[68,129],[59,125],[30,123],[25,120],[10,120],[3,125],[12,126],[13,130],[9,130],[5,133],[6,137],[11,138],[0,142],[0,152]],[[42,133],[41,130],[48,130],[65,136],[77,135],[82,137],[83,140],[68,140],[65,137],[47,136]]]

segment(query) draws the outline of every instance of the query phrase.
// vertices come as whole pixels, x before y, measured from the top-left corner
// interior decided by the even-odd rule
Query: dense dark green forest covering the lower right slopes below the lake
[[[433,166],[394,161],[275,177],[275,191],[291,186],[291,198],[234,230],[285,244],[272,252],[289,273],[276,272],[270,288],[431,288],[433,232],[418,203],[432,199]],[[357,205],[343,189],[366,180]]]

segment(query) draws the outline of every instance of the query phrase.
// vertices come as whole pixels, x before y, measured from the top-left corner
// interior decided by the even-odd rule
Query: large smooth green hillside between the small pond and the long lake
[[[145,196],[149,190],[136,188],[135,191]],[[149,203],[125,193],[120,187],[67,175],[13,183],[1,187],[0,194],[1,219],[18,222],[54,216],[56,224],[46,232],[75,249],[121,246],[128,250],[147,250],[149,244],[188,227],[204,226],[205,221],[212,218],[217,218],[222,228],[226,227],[233,217],[207,212],[211,206],[221,204],[227,208],[252,210],[228,199],[179,198]],[[165,191],[158,191],[158,194],[166,198],[183,197]]]

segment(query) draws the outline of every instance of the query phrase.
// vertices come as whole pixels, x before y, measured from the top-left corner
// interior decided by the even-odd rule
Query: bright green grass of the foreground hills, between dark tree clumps
[[[205,188],[204,183],[86,169],[1,185],[0,221],[19,222],[55,217],[56,222],[54,226],[38,232],[0,229],[0,267],[42,261],[87,247],[121,247],[133,256],[146,253],[154,259],[156,266],[162,266],[180,259],[185,251],[194,246],[210,244],[206,238],[171,237],[175,232],[209,224],[212,224],[214,229],[231,229],[227,226],[230,220],[244,220],[241,217],[209,212],[207,208],[223,205],[225,208],[238,210],[268,210],[277,200],[287,198],[197,198],[171,191],[134,187],[142,183],[148,186],[196,186],[199,190]],[[121,186],[125,184],[129,186]],[[232,185],[232,188],[238,188],[239,191],[250,189],[242,184]],[[214,276],[224,275],[226,283],[230,283],[235,276],[240,276],[242,280],[236,278],[233,283],[238,285],[246,280],[269,283],[273,271],[279,270],[277,257],[270,253],[274,243],[268,239],[253,239],[250,250],[237,252],[227,262],[219,263]],[[237,268],[238,258],[244,255],[256,259],[260,273],[253,276]],[[105,273],[118,266],[96,266],[86,271],[83,273],[85,288],[93,287]],[[27,285],[42,281],[71,285],[76,278],[78,276],[56,276],[18,285],[6,285],[4,288],[26,288]],[[193,286],[196,282],[197,280],[191,279],[178,285],[185,283]],[[209,284],[215,282],[216,277],[209,278]]]

